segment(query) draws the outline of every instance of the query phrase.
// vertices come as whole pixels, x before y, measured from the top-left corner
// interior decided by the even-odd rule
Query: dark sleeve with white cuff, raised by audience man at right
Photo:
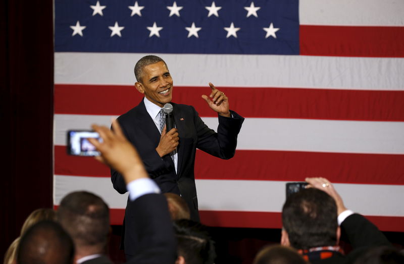
[[[384,234],[364,216],[353,214],[341,223],[341,231],[347,236],[352,248],[391,246]]]

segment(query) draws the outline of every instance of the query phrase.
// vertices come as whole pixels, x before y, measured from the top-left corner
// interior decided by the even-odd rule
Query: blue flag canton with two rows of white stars
[[[55,51],[299,54],[298,1],[55,0]]]

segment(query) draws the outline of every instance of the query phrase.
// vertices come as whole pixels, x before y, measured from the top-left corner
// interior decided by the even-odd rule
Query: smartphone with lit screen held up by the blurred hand
[[[98,133],[92,130],[67,131],[67,153],[76,156],[99,156],[100,153],[87,140],[88,138],[96,138],[102,142]]]

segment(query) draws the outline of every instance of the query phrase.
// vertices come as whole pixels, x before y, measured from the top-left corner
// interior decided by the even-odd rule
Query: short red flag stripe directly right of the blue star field
[[[300,25],[300,55],[404,57],[404,27]]]

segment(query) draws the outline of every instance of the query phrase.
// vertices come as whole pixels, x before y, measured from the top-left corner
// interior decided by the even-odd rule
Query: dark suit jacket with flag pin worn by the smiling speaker
[[[219,127],[218,133],[216,133],[200,119],[192,106],[171,104],[180,138],[177,148],[177,173],[170,155],[161,158],[156,152],[161,135],[153,119],[147,113],[143,99],[139,105],[118,117],[118,121],[126,138],[139,152],[150,178],[156,181],[162,192],[181,194],[189,206],[191,219],[199,221],[193,171],[196,148],[222,159],[232,158],[237,145],[237,135],[244,118],[233,111],[231,111],[233,118],[219,115]],[[119,193],[127,191],[122,175],[115,170],[111,170],[111,180]],[[127,254],[127,245],[133,246],[133,241],[128,238],[133,232],[133,225],[128,219],[128,216],[132,214],[134,212],[128,204],[124,220],[124,244]]]

